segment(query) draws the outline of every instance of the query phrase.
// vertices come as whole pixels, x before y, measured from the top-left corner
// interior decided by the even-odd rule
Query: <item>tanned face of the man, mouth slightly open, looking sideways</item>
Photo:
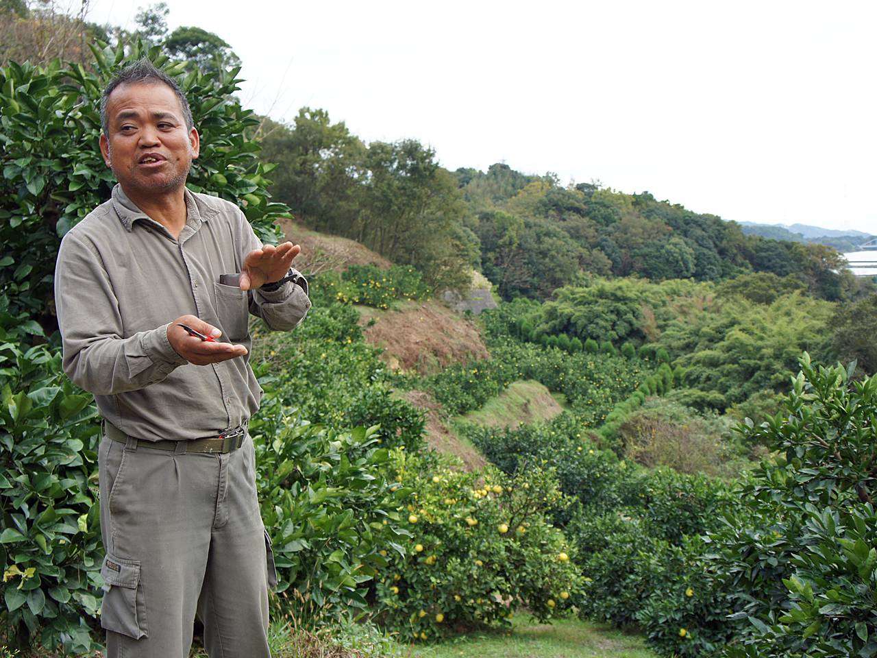
[[[126,191],[167,194],[186,182],[198,157],[195,128],[186,129],[174,90],[163,82],[120,84],[107,98],[101,153]]]

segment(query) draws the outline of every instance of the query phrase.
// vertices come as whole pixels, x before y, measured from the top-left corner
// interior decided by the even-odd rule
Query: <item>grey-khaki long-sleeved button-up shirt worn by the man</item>
[[[259,409],[248,329],[252,313],[289,331],[310,309],[308,284],[273,292],[219,283],[262,246],[238,206],[185,190],[177,240],[118,184],[61,240],[54,294],[63,367],[93,393],[103,418],[145,440],[197,439],[239,426]],[[243,345],[245,356],[196,366],[168,342],[168,325],[192,314]]]

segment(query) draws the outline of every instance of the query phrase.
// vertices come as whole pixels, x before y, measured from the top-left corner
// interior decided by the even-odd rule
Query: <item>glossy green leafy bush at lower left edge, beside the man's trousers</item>
[[[61,352],[26,347],[39,325],[0,296],[0,623],[18,643],[38,638],[88,651],[103,547],[97,505],[100,427],[70,383]]]

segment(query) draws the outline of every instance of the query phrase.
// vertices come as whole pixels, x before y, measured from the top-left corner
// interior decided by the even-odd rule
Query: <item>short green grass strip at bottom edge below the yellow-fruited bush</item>
[[[474,633],[414,649],[411,658],[655,658],[638,635],[579,619],[550,626],[525,615],[510,633]]]

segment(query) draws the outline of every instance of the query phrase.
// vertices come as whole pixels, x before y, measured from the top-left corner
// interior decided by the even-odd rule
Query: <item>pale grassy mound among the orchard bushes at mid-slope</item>
[[[560,395],[560,394],[558,394]],[[461,420],[491,427],[517,427],[557,416],[566,400],[560,399],[535,380],[512,382],[506,390],[491,397],[481,409],[469,411]]]

